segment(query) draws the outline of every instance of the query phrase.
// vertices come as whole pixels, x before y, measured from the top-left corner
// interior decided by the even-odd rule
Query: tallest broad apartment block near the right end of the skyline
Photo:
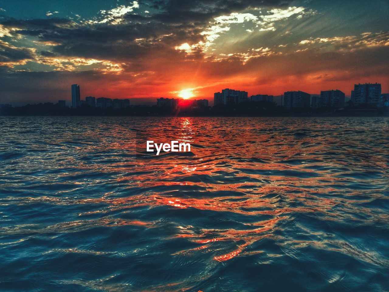
[[[354,90],[351,91],[351,101],[354,106],[357,106],[358,104],[373,104],[380,107],[381,84],[354,84]]]

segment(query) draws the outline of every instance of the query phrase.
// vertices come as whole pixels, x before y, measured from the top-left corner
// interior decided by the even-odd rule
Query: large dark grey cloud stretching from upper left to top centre
[[[18,34],[36,36],[42,42],[58,42],[53,53],[64,56],[79,56],[128,61],[152,56],[157,51],[176,55],[173,47],[184,42],[189,44],[204,41],[201,32],[216,16],[242,11],[249,7],[278,7],[284,0],[241,1],[156,1],[153,7],[161,12],[141,16],[128,12],[120,16],[120,24],[75,23],[69,19],[50,18],[18,20],[5,19],[5,27],[18,28]],[[143,41],[136,41],[144,39]],[[45,56],[49,55],[47,52]],[[163,55],[163,53],[162,53]]]

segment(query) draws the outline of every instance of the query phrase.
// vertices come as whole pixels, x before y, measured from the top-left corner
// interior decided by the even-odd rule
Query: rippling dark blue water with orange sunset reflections
[[[388,123],[0,117],[0,290],[389,291]]]

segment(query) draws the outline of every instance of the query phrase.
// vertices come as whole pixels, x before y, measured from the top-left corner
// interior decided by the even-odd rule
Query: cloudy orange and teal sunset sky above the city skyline
[[[0,103],[389,92],[389,2],[2,1]],[[133,98],[137,98],[136,100]]]

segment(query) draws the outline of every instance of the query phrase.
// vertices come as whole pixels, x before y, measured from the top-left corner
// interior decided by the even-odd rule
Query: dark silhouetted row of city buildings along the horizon
[[[255,94],[248,96],[247,91],[234,90],[230,88],[225,88],[221,92],[214,93],[214,102],[211,105],[219,106],[224,105],[228,106],[231,104],[240,104],[244,102],[270,102],[274,106],[281,106],[284,109],[343,109],[344,107],[354,107],[366,105],[368,107],[383,108],[389,107],[389,93],[382,93],[380,83],[364,83],[364,84],[354,84],[354,90],[351,91],[351,98],[346,100],[345,93],[341,90],[321,90],[320,94],[310,94],[300,90],[291,90],[284,92],[283,95],[274,97],[273,95],[268,94]],[[87,96],[85,100],[80,98],[80,85],[72,84],[71,86],[71,106],[70,108],[75,109],[77,107],[88,106],[89,108],[112,108],[112,109],[125,109],[130,105],[134,106],[136,104],[130,104],[130,99],[110,99],[107,97],[92,97]],[[280,103],[277,102],[277,99],[280,97]],[[42,103],[40,103],[42,104]],[[46,102],[45,104],[51,104],[52,102]],[[67,107],[66,100],[58,100],[56,104],[59,107]],[[147,106],[143,104],[142,106]],[[156,106],[163,107],[168,106],[174,109],[180,107],[209,107],[209,99],[191,99],[191,98],[168,98],[168,97],[159,97],[156,99]],[[12,107],[11,104],[0,104],[1,107]]]

